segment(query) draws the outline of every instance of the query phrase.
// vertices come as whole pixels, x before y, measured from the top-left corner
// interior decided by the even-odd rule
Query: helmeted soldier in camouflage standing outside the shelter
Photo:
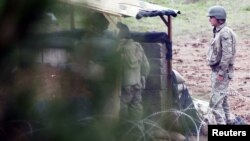
[[[226,25],[227,14],[223,7],[212,6],[208,10],[209,22],[213,28],[213,39],[207,53],[211,74],[211,98],[217,124],[230,124],[230,110],[227,100],[229,81],[233,77],[236,53],[236,35]]]

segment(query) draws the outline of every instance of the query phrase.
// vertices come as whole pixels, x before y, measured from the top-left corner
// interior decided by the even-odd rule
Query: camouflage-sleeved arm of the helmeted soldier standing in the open
[[[219,75],[224,76],[229,69],[230,59],[233,57],[233,42],[229,31],[221,33],[222,57],[219,64]]]

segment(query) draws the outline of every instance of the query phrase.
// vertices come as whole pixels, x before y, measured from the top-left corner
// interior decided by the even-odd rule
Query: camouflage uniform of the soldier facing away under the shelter
[[[132,39],[122,39],[119,52],[122,60],[120,116],[139,120],[143,113],[141,90],[145,88],[149,63],[142,46]]]

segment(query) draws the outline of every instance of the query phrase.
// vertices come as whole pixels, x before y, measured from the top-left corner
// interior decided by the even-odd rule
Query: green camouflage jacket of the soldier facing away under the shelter
[[[139,84],[149,74],[149,62],[140,43],[132,39],[122,39],[119,44],[122,61],[122,86]]]

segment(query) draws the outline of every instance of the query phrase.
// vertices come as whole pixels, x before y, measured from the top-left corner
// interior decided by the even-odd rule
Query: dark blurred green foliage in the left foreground
[[[85,20],[84,29],[66,31],[48,18],[67,15],[65,4],[0,4],[0,140],[114,140],[117,120],[109,110],[115,106],[106,105],[119,89],[120,61],[116,38],[97,30],[105,23],[90,28]],[[50,48],[65,50],[68,61],[56,66],[43,57],[38,61]]]

